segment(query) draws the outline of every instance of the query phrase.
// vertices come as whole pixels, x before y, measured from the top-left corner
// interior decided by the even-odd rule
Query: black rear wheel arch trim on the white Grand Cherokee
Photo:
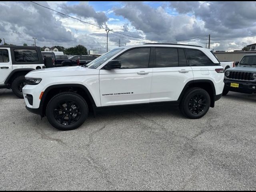
[[[178,98],[179,102],[182,100],[186,90],[190,87],[199,87],[206,90],[210,95],[210,99],[211,99],[210,107],[214,107],[216,90],[215,90],[214,83],[211,80],[192,80],[187,82]]]

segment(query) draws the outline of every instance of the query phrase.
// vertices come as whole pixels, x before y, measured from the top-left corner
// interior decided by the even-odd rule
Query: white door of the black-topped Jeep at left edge
[[[0,48],[0,83],[12,72],[10,48]]]

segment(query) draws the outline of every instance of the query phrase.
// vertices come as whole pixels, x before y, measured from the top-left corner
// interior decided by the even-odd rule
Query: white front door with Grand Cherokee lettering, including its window
[[[148,103],[152,68],[148,68],[150,48],[130,49],[115,58],[120,69],[100,70],[101,106]]]

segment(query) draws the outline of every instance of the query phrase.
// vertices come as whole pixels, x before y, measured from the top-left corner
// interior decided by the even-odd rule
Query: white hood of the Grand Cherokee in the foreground
[[[33,70],[26,74],[28,78],[46,78],[46,77],[65,77],[65,76],[79,76],[86,74],[98,74],[99,70],[89,69],[81,66],[70,67],[53,67]]]

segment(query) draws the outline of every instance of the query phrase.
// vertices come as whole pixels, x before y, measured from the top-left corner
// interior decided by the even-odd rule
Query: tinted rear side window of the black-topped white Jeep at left
[[[38,55],[36,50],[14,49],[14,59],[16,62],[37,62]]]

